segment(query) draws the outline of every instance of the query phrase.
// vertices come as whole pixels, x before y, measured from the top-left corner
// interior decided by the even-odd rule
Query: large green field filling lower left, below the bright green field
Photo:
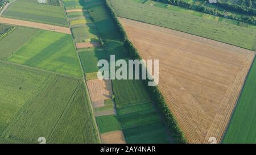
[[[80,79],[9,62],[0,68],[0,143],[100,142]]]

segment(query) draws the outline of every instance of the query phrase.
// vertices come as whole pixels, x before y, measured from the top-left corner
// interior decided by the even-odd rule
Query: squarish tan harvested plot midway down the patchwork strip
[[[110,99],[113,95],[110,80],[92,79],[87,81],[87,85],[92,102]]]

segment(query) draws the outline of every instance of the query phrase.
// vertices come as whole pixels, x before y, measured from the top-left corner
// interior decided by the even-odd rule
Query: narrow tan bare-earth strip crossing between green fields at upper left
[[[0,23],[13,24],[18,26],[34,27],[42,30],[55,31],[61,33],[71,34],[71,30],[68,27],[53,26],[50,24],[28,22],[25,20],[11,19],[11,18],[2,18],[0,17]]]

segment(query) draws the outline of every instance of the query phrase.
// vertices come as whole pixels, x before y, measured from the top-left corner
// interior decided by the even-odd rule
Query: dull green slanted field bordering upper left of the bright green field
[[[16,28],[16,30],[0,40],[0,60],[6,60],[39,31],[29,27]]]

